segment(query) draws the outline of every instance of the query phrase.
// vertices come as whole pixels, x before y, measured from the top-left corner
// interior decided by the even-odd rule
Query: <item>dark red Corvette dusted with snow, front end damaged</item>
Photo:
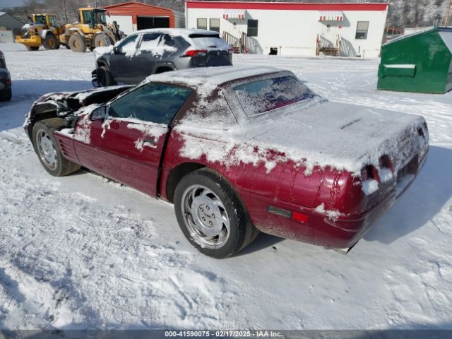
[[[258,230],[351,248],[412,182],[429,144],[422,117],[328,102],[263,67],[44,95],[25,131],[52,175],[88,167],[174,203],[189,242],[216,258]]]

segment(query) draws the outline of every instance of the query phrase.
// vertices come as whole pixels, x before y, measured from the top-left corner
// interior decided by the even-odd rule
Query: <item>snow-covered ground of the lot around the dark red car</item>
[[[378,91],[378,60],[234,55],[295,71],[333,102],[422,114],[431,148],[347,256],[261,234],[218,261],[186,242],[172,205],[40,165],[24,115],[44,93],[90,88],[93,54],[0,49],[13,78],[0,103],[0,329],[452,328],[452,93]]]

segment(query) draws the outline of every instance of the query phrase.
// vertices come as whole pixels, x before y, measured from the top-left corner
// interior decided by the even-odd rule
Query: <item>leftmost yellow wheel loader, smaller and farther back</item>
[[[41,46],[45,49],[59,49],[59,35],[64,31],[57,26],[54,14],[32,14],[30,23],[22,28],[22,35],[16,37],[18,44],[24,44],[29,51],[36,51]]]

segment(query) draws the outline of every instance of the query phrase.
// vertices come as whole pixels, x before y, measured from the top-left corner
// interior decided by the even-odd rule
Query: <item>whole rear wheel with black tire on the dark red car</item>
[[[174,210],[186,239],[206,256],[230,257],[258,235],[237,193],[212,169],[198,169],[181,179]]]

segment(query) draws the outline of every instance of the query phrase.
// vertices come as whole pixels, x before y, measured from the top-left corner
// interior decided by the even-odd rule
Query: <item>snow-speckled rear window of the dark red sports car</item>
[[[316,95],[293,76],[278,76],[234,87],[248,117],[307,100]]]

